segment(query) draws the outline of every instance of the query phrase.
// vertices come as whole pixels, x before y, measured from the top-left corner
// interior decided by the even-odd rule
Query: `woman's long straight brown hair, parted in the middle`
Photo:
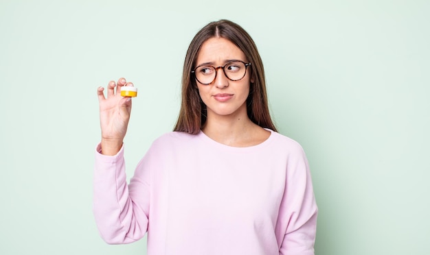
[[[206,122],[206,106],[200,98],[196,80],[192,76],[191,71],[195,67],[201,45],[213,37],[230,40],[245,53],[245,56],[251,62],[251,80],[253,80],[253,83],[249,85],[249,95],[247,98],[248,117],[253,123],[260,125],[260,127],[267,127],[276,131],[276,127],[270,117],[264,67],[256,44],[240,25],[224,19],[205,25],[194,36],[190,47],[188,47],[183,63],[181,110],[179,111],[174,131],[197,134]]]

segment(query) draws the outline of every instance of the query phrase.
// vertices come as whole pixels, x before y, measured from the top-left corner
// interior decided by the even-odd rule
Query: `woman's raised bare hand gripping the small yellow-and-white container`
[[[122,97],[121,87],[133,86],[131,82],[120,78],[115,84],[109,82],[107,97],[104,97],[103,87],[97,89],[100,106],[100,127],[102,128],[102,154],[115,155],[120,151],[124,136],[127,132],[128,120],[131,113],[131,97]]]

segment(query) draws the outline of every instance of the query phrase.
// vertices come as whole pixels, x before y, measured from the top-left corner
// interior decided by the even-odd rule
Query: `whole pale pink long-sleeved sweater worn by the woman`
[[[148,232],[148,255],[314,254],[317,205],[295,141],[229,147],[203,132],[158,138],[126,183],[124,147],[95,154],[93,210],[107,243]]]

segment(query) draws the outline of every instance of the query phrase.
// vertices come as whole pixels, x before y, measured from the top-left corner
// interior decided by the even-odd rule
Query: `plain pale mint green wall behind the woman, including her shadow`
[[[218,19],[253,36],[275,122],[306,150],[316,254],[430,254],[429,1],[121,2],[0,2],[0,254],[146,254],[93,221],[95,91],[139,88],[130,176],[174,125],[192,36]]]

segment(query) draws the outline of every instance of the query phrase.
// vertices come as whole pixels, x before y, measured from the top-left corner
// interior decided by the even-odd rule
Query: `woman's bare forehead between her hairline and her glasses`
[[[229,60],[246,61],[246,56],[233,42],[225,38],[213,37],[201,45],[196,64],[223,64]]]

